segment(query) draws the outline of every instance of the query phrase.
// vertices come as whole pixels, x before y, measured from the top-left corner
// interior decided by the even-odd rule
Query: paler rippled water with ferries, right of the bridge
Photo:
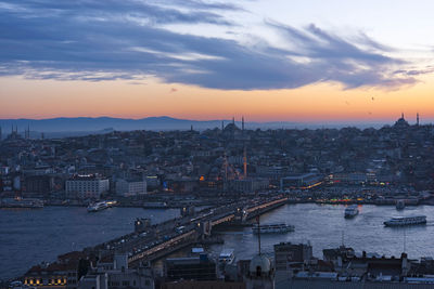
[[[322,258],[322,249],[342,245],[356,251],[376,252],[381,255],[399,257],[406,246],[409,258],[434,257],[434,207],[407,207],[397,211],[395,207],[359,206],[360,213],[354,219],[344,219],[345,206],[299,203],[286,205],[264,214],[260,223],[288,223],[295,232],[288,234],[263,234],[261,252],[273,255],[273,245],[280,241],[310,241],[314,255]],[[385,227],[383,222],[395,215],[425,214],[426,226]],[[343,234],[344,233],[344,234]],[[252,259],[258,251],[257,235],[252,228],[221,233],[225,245],[208,248],[218,255],[222,248],[235,249],[238,260]]]

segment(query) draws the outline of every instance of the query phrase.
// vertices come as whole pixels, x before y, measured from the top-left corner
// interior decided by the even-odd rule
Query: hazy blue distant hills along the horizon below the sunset
[[[77,117],[77,118],[49,118],[49,119],[0,119],[0,127],[3,136],[9,134],[12,126],[18,128],[18,132],[24,132],[27,127],[30,128],[30,135],[43,132],[48,137],[60,137],[67,135],[85,135],[89,133],[106,133],[113,130],[130,131],[130,130],[190,130],[193,126],[194,130],[206,130],[221,128],[221,121],[225,126],[232,120],[190,120],[178,119],[171,117],[148,117],[141,119],[112,118],[112,117]],[[241,121],[235,121],[241,127]],[[317,128],[342,128],[347,126],[381,127],[384,123],[307,123],[307,122],[245,122],[246,129],[317,129]],[[107,129],[108,128],[108,129]]]

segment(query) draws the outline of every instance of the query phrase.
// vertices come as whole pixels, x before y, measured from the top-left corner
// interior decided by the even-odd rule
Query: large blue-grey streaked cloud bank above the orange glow
[[[407,64],[363,34],[355,41],[315,25],[296,29],[279,23],[285,45],[170,31],[167,24],[234,25],[222,14],[242,11],[220,2],[181,1],[0,1],[0,75],[100,81],[141,80],[222,90],[291,89],[337,82],[345,89],[395,89],[417,82],[396,74]],[[186,10],[186,8],[188,8]]]

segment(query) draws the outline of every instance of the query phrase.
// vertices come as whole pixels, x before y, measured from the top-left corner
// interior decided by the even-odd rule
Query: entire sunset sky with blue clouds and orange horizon
[[[434,1],[0,0],[0,118],[434,120]]]

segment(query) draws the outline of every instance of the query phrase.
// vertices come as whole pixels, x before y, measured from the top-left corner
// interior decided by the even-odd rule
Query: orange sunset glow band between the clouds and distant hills
[[[434,118],[433,82],[430,80],[426,78],[401,90],[343,90],[336,83],[317,83],[291,90],[241,91],[162,83],[156,79],[131,84],[129,81],[81,83],[13,77],[0,79],[2,95],[14,98],[2,103],[0,115],[36,119],[168,115],[199,120],[244,115],[254,121],[390,122],[401,111],[410,119],[418,111],[425,119]]]

